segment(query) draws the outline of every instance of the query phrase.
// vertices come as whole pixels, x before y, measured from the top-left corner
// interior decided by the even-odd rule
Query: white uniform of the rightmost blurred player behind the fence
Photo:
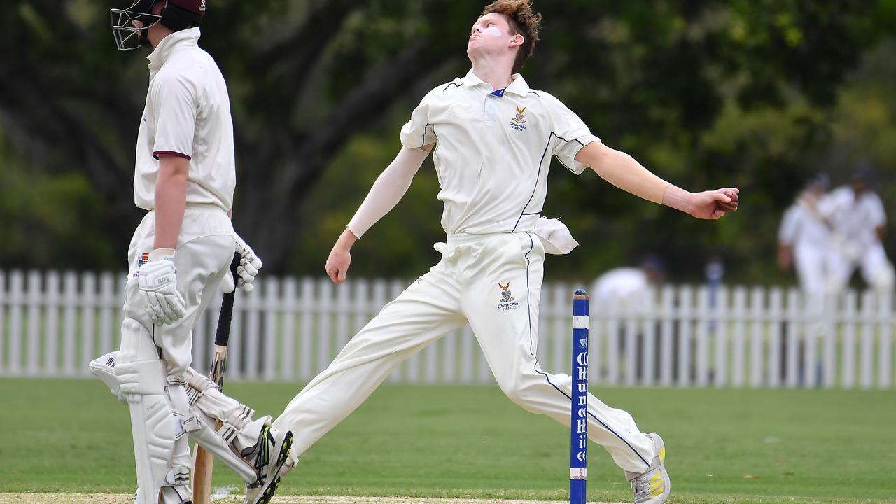
[[[887,222],[881,198],[871,191],[856,197],[852,187],[838,187],[825,199],[824,212],[833,222],[839,252],[834,261],[834,286],[845,288],[859,266],[869,285],[892,289],[893,266],[877,237],[877,228]]]

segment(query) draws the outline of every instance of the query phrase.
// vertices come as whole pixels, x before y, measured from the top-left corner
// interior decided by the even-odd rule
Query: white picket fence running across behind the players
[[[0,376],[82,377],[117,348],[124,274],[0,271]],[[305,382],[389,300],[399,281],[260,277],[237,293],[228,379]],[[539,310],[542,369],[569,372],[575,287],[546,283]],[[586,288],[588,286],[585,286]],[[779,288],[675,286],[636,300],[592,300],[590,383],[661,387],[892,388],[891,296],[850,291],[806,300]],[[204,371],[215,300],[194,332]],[[395,369],[392,381],[487,384],[470,327]]]

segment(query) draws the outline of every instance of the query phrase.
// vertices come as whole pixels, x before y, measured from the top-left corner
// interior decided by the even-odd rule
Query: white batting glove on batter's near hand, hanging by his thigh
[[[153,250],[150,262],[140,266],[138,284],[146,294],[146,314],[153,324],[170,325],[184,317],[184,298],[177,291],[174,249]]]

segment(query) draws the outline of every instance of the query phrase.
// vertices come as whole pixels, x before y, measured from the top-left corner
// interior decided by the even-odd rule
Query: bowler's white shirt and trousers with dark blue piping
[[[392,369],[470,323],[498,386],[513,402],[570,424],[572,382],[541,369],[538,300],[544,246],[533,232],[547,193],[551,155],[575,174],[583,145],[599,139],[563,103],[521,75],[495,91],[470,72],[426,94],[401,128],[401,143],[435,143],[448,237],[442,260],[385,306],[273,427],[295,434],[294,460],[355,410]],[[642,473],[654,456],[632,416],[589,398],[590,439],[616,465]]]

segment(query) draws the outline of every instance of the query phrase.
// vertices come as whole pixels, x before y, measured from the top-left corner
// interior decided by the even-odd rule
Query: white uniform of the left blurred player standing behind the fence
[[[831,229],[820,212],[809,201],[797,199],[784,212],[778,229],[778,242],[792,248],[799,285],[807,293],[829,289],[838,267]]]

